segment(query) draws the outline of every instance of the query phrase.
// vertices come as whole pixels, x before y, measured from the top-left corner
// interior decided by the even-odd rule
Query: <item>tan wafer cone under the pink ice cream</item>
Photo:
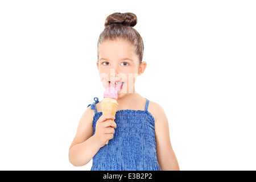
[[[104,98],[101,102],[101,109],[102,109],[102,114],[111,114],[115,116],[115,113],[117,112],[117,100],[113,98]],[[108,121],[107,119],[106,121]],[[109,143],[109,140],[106,141],[106,144]]]

